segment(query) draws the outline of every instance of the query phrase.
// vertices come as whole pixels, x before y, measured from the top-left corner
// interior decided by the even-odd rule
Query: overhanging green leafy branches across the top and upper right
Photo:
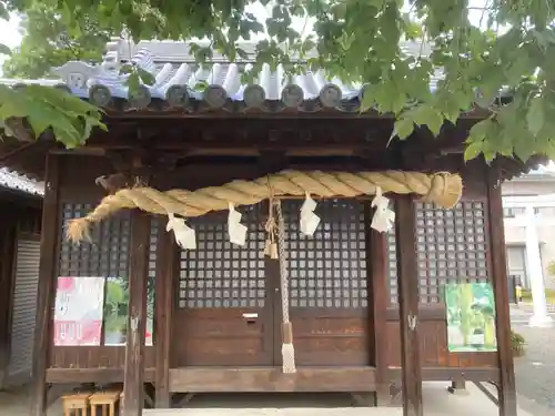
[[[34,2],[2,1],[20,11]],[[292,62],[296,55],[343,81],[363,81],[363,108],[393,113],[392,138],[401,140],[416,125],[440,133],[444,120],[455,122],[474,105],[476,93],[480,105],[491,106],[507,91],[511,102],[492,106],[491,116],[471,130],[465,158],[555,156],[555,0],[484,0],[480,10],[468,0],[261,0],[268,19],[252,12],[254,2],[42,0],[72,34],[93,16],[134,39],[208,39],[208,48],[193,48],[199,62],[210,62],[212,50],[232,61],[245,58],[239,42],[255,35],[253,73],[263,62],[301,71]],[[420,42],[420,53],[405,54],[402,40]],[[432,93],[438,70],[443,80]],[[149,83],[148,74],[129,71],[132,90],[140,80]]]

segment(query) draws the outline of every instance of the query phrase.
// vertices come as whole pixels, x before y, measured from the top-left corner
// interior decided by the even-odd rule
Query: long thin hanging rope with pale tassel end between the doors
[[[280,201],[275,202],[275,210],[278,213],[278,250],[280,253],[281,302],[283,310],[283,345],[281,348],[283,357],[283,373],[296,373],[295,348],[293,347],[293,326],[289,321],[289,276],[286,265],[287,260],[285,258],[285,222],[283,221]]]

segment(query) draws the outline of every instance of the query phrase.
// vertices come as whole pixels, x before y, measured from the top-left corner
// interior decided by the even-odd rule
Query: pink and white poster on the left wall
[[[104,277],[58,277],[54,345],[100,345]]]

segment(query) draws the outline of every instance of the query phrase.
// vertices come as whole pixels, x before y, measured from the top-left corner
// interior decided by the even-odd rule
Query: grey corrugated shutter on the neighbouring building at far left
[[[13,312],[11,327],[11,354],[7,384],[24,384],[29,381],[33,357],[34,322],[37,315],[37,288],[39,284],[40,242],[18,240]]]

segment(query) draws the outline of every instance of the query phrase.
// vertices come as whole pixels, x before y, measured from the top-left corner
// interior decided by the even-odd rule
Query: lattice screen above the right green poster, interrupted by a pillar
[[[390,295],[397,303],[395,240],[389,236]],[[478,282],[488,277],[485,204],[460,202],[453,210],[416,204],[416,252],[421,303],[440,303],[447,282]]]

